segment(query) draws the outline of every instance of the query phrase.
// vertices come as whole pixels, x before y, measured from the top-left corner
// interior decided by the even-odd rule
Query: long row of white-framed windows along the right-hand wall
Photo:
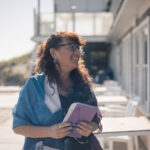
[[[121,46],[120,46],[121,45]],[[115,66],[116,50],[120,47],[120,67]],[[127,96],[139,101],[141,112],[150,116],[150,19],[147,17],[129,32],[111,52],[110,64],[121,73],[121,86]]]

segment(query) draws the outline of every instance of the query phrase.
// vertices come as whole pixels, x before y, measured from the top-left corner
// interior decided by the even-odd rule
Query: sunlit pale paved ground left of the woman
[[[11,112],[17,99],[18,88],[0,88],[0,150],[22,149],[24,137],[15,134],[12,130]]]

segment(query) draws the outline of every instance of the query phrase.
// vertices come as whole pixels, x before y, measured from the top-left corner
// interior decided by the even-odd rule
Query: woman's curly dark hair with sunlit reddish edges
[[[36,52],[34,69],[36,74],[42,72],[45,73],[45,75],[48,76],[49,83],[57,83],[61,87],[63,85],[61,85],[59,73],[49,50],[50,48],[55,48],[57,50],[58,44],[64,38],[80,46],[84,46],[86,44],[86,42],[74,32],[61,31],[52,34],[46,41],[39,45]],[[79,59],[78,67],[70,72],[70,77],[73,82],[78,83],[78,85],[90,85],[91,78],[87,69],[85,68],[82,57]]]

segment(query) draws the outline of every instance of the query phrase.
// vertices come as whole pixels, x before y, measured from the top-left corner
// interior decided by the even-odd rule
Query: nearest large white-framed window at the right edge
[[[149,44],[149,18],[147,18],[133,31],[133,96],[139,97],[140,109],[145,115],[150,115]]]

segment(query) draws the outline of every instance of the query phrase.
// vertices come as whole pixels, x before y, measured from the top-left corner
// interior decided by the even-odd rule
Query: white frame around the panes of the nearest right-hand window
[[[143,44],[143,31],[144,29],[147,28],[148,29],[148,34],[147,34],[147,64],[144,64],[143,61],[143,53],[144,51],[144,44]],[[138,95],[135,95],[135,88],[136,88],[136,84],[135,84],[135,80],[134,80],[134,87],[133,87],[133,98],[135,96],[139,96],[139,109],[140,111],[146,115],[146,116],[150,116],[150,19],[149,16],[144,19],[133,31],[132,31],[132,36],[133,36],[133,78],[136,76],[135,74],[135,68],[138,69],[139,71],[139,84],[138,84]],[[135,47],[135,37],[139,38],[138,44],[139,44],[139,64],[135,64],[135,60],[136,60],[136,47]],[[144,52],[143,52],[144,51]],[[143,69],[146,68],[147,69],[147,100],[143,100],[143,94],[142,94],[142,88],[143,88]]]

